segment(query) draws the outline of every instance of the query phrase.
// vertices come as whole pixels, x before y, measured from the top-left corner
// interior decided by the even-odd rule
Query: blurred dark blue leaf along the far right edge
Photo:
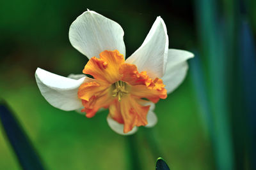
[[[246,18],[241,20],[239,36],[239,64],[240,71],[243,77],[243,99],[245,101],[244,113],[240,113],[240,117],[246,115],[246,122],[248,130],[248,137],[246,140],[246,148],[249,153],[249,164],[251,169],[256,169],[256,50],[255,40],[253,39],[253,32],[250,24]],[[237,117],[237,118],[240,118]],[[240,135],[241,136],[241,135]]]

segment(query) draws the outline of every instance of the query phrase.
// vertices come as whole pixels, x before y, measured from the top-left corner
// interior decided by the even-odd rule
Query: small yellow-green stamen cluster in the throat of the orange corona
[[[118,96],[118,101],[121,101],[121,98],[124,96],[124,94],[127,94],[127,84],[124,81],[116,81],[112,85],[113,91],[112,91],[112,96],[116,97]]]

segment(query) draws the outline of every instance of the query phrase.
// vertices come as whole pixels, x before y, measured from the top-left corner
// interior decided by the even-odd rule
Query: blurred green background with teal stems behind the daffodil
[[[186,80],[156,105],[158,124],[120,136],[108,111],[86,118],[45,101],[36,67],[68,76],[87,60],[68,40],[70,24],[86,8],[115,20],[125,32],[127,57],[157,16],[169,48],[189,50]],[[45,169],[256,169],[256,2],[33,1],[0,2],[0,98],[10,105]],[[20,169],[4,134],[0,169]]]

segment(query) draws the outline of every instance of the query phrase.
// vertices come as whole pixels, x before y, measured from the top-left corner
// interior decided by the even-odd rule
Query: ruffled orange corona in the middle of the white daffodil
[[[109,108],[110,117],[124,124],[125,133],[134,126],[148,124],[150,106],[142,105],[145,99],[157,103],[167,97],[160,78],[153,80],[145,71],[139,73],[134,64],[125,63],[124,55],[118,50],[106,50],[100,53],[100,58],[92,57],[83,73],[93,76],[77,93],[86,117],[93,117],[100,108]]]

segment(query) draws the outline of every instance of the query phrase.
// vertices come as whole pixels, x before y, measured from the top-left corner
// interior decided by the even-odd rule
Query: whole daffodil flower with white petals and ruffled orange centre
[[[71,24],[69,39],[88,57],[83,75],[64,77],[36,69],[42,96],[54,107],[94,117],[108,108],[107,121],[118,134],[157,122],[154,103],[165,99],[184,80],[193,53],[168,49],[166,25],[157,17],[143,44],[125,60],[122,27],[95,11],[85,11]],[[90,74],[89,78],[85,74]]]

